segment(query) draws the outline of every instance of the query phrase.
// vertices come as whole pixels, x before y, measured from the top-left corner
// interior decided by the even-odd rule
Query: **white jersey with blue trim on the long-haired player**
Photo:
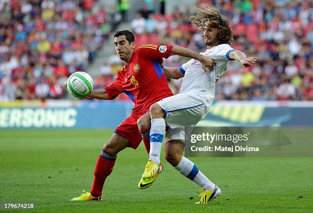
[[[215,59],[216,65],[212,72],[205,73],[200,61],[195,59],[191,59],[179,67],[184,74],[180,94],[192,94],[207,107],[211,107],[215,96],[215,81],[226,72],[229,54],[234,50],[231,46],[222,44],[200,53]]]

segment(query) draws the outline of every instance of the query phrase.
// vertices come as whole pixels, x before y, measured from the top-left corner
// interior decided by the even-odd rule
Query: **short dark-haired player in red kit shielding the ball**
[[[204,69],[213,69],[214,59],[177,46],[143,45],[135,49],[135,36],[128,30],[118,31],[114,35],[114,44],[119,57],[126,62],[123,70],[117,74],[116,81],[104,90],[92,91],[92,98],[111,100],[126,93],[135,103],[131,115],[114,131],[105,143],[94,171],[94,183],[90,192],[83,191],[80,197],[72,201],[102,200],[102,188],[107,176],[113,170],[117,154],[126,147],[136,149],[144,139],[149,153],[149,129],[141,129],[137,121],[141,116],[149,116],[151,104],[172,96],[160,60],[170,55],[181,55],[202,62]],[[162,171],[160,164],[159,173]]]

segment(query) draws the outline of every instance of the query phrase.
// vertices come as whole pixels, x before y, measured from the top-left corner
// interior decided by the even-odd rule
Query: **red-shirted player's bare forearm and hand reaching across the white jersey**
[[[212,71],[214,66],[216,65],[215,59],[206,57],[183,47],[173,46],[171,55],[180,55],[183,57],[194,58],[200,61],[202,63],[202,68],[204,69],[205,73],[207,72],[207,68]]]

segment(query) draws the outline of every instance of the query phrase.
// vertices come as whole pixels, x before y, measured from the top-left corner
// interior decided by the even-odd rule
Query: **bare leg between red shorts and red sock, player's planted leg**
[[[116,155],[124,150],[128,144],[128,139],[118,135],[117,133],[113,133],[109,141],[103,146],[103,149],[111,155]]]

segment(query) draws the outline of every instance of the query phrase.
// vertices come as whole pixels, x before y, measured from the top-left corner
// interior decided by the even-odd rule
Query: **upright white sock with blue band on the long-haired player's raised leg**
[[[154,163],[160,163],[161,146],[164,133],[165,120],[163,118],[151,119],[149,160]]]

